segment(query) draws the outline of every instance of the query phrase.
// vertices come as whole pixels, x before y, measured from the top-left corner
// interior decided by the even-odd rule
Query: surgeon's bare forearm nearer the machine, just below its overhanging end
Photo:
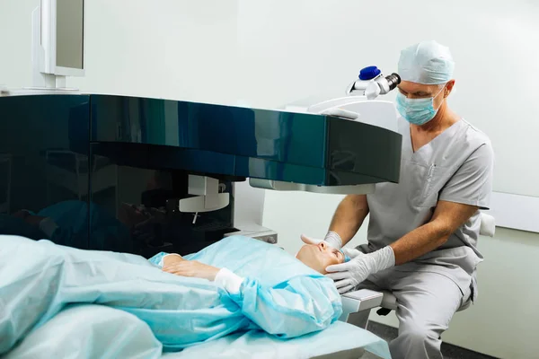
[[[333,215],[330,231],[339,233],[344,246],[356,235],[367,215],[367,196],[349,195],[344,197]]]

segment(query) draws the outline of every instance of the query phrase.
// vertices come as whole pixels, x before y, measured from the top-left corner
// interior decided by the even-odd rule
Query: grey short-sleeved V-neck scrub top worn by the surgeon
[[[367,195],[370,212],[368,244],[361,250],[379,250],[428,223],[438,200],[488,209],[494,154],[489,138],[464,119],[447,128],[415,153],[410,124],[399,118],[402,135],[401,177],[398,184],[379,183]],[[395,267],[402,271],[436,272],[451,278],[461,290],[473,285],[482,261],[477,249],[479,211],[437,250]]]

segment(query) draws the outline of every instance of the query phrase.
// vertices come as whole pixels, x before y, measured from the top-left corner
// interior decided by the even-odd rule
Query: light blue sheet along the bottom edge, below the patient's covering
[[[249,330],[190,346],[179,353],[162,354],[161,343],[142,320],[126,311],[82,304],[60,311],[3,359],[302,359],[356,348],[385,359],[391,357],[383,339],[339,321],[323,331],[294,339],[279,339],[261,330]]]

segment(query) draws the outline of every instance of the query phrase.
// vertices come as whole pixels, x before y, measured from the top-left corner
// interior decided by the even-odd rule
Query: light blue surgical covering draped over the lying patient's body
[[[190,258],[245,277],[240,293],[164,273],[139,256],[0,236],[0,355],[72,303],[135,315],[164,351],[249,329],[298,337],[327,328],[340,316],[331,279],[278,247],[229,237]]]

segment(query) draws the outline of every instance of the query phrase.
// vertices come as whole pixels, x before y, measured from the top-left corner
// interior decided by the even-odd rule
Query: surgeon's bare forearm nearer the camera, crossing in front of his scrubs
[[[390,247],[395,255],[395,266],[410,262],[444,244],[451,232],[438,223],[427,223],[409,232]]]

